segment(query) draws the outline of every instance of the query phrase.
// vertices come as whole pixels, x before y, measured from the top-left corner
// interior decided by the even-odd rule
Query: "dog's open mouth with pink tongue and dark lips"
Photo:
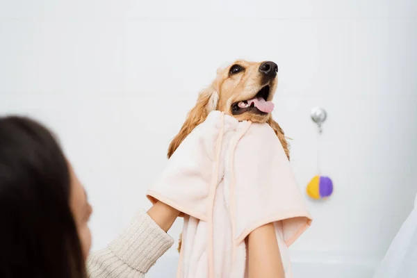
[[[270,85],[265,85],[252,99],[236,101],[231,105],[231,113],[239,115],[245,112],[268,114],[274,110],[274,104],[267,101],[270,94]]]

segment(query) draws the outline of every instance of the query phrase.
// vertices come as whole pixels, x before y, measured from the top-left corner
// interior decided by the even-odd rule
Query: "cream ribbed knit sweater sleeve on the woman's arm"
[[[140,211],[130,226],[106,249],[90,254],[90,278],[142,278],[174,240],[145,211]]]

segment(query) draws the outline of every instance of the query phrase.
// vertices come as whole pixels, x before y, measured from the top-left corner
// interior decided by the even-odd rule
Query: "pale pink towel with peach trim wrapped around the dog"
[[[220,111],[181,143],[147,197],[183,213],[177,277],[247,277],[245,238],[270,222],[291,277],[288,246],[311,224],[272,128]]]

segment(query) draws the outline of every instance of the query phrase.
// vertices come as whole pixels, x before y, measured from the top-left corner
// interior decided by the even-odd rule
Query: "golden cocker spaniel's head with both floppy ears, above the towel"
[[[270,114],[274,108],[271,101],[277,88],[277,72],[278,66],[274,62],[253,63],[245,60],[237,60],[218,70],[213,83],[199,93],[197,104],[188,113],[186,122],[172,140],[168,158],[195,126],[204,122],[208,113],[214,110],[232,115],[239,121],[267,122],[289,157],[284,132]]]

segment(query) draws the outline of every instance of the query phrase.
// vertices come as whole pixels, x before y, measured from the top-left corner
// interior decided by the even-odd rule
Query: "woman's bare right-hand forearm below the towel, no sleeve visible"
[[[247,236],[249,278],[284,278],[274,224],[266,224]]]

